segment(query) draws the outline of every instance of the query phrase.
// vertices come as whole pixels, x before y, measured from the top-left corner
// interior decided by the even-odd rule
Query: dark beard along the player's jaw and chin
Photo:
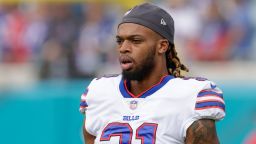
[[[155,49],[151,49],[148,55],[141,61],[141,63],[134,70],[123,70],[122,75],[127,80],[141,81],[151,74],[155,67]]]

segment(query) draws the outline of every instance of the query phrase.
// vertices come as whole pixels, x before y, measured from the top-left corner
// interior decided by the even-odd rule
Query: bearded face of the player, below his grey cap
[[[124,78],[143,80],[155,68],[159,35],[147,27],[124,23],[118,27],[116,39]]]

